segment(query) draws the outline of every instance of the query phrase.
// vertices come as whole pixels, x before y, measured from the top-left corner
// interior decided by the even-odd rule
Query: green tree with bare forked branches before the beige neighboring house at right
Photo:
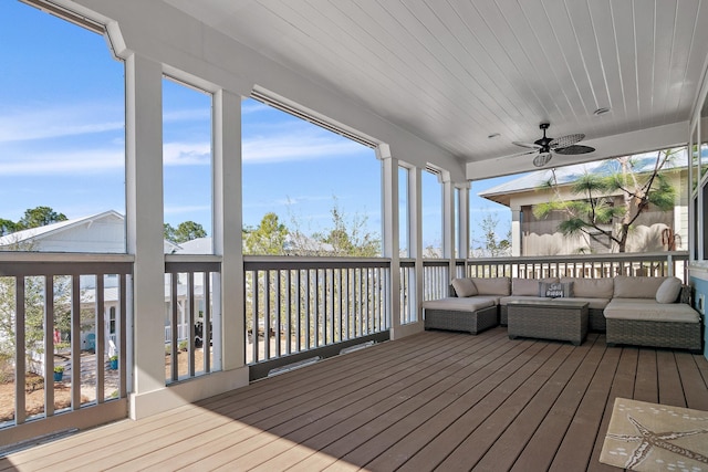
[[[674,208],[676,190],[664,170],[679,150],[657,151],[652,171],[636,170],[639,167],[637,159],[625,156],[615,159],[618,171],[610,176],[586,172],[571,187],[571,192],[581,199],[561,197],[553,170],[543,188],[552,189],[554,198],[537,204],[533,214],[545,218],[554,211],[563,212],[566,219],[559,223],[558,229],[564,235],[586,235],[607,249],[625,252],[634,223],[650,204],[662,211]],[[617,195],[621,204],[616,204]]]

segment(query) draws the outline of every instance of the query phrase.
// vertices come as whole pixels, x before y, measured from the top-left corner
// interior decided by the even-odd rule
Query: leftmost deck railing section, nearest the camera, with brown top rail
[[[12,416],[0,426],[125,399],[132,260],[46,253],[0,259],[0,310],[12,321],[0,332],[0,376],[15,390]]]

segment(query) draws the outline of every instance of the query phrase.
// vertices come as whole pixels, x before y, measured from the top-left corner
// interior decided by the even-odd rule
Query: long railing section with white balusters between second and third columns
[[[248,364],[298,361],[303,353],[317,356],[319,348],[345,348],[387,334],[388,260],[244,259]]]

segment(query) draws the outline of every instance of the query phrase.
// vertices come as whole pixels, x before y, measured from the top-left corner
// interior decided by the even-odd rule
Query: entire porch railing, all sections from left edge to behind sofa
[[[686,252],[402,260],[400,291],[392,293],[391,261],[346,258],[244,258],[246,359],[259,376],[284,364],[332,355],[388,336],[392,316],[416,323],[416,296],[447,296],[452,276],[675,275],[686,282]],[[15,384],[11,421],[34,413],[28,389],[42,389],[40,416],[126,398],[126,301],[133,262],[128,255],[7,253],[0,256],[0,310],[14,325],[0,332],[0,375]],[[165,265],[166,381],[220,369],[220,261],[216,256],[167,256]],[[399,296],[400,312],[391,313]],[[56,328],[56,329],[55,329]],[[186,349],[183,350],[184,346]],[[8,346],[11,346],[8,348]],[[200,347],[204,349],[200,350]],[[329,350],[327,350],[329,349]],[[329,354],[327,354],[329,353]],[[110,357],[118,357],[116,370]],[[199,356],[198,356],[199,355]],[[176,363],[173,359],[187,359]],[[63,367],[64,379],[53,378]],[[59,369],[61,370],[61,368]],[[9,373],[9,374],[8,374]],[[93,378],[95,394],[84,398]],[[39,380],[41,379],[41,381]],[[69,406],[54,402],[58,388],[71,389]]]

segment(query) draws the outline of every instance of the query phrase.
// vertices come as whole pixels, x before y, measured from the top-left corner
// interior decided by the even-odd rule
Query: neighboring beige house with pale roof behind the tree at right
[[[642,171],[652,171],[656,162],[656,153],[637,156]],[[674,211],[658,211],[649,207],[637,219],[627,240],[627,252],[656,252],[686,250],[688,241],[688,168],[685,153],[677,156],[665,167],[664,174],[676,190]],[[570,188],[585,172],[611,175],[618,170],[614,159],[589,162],[554,169],[561,198],[582,199],[573,195]],[[512,255],[556,255],[577,252],[605,253],[616,251],[587,237],[568,238],[558,231],[559,223],[566,217],[554,212],[545,219],[533,216],[533,207],[555,198],[554,190],[542,188],[552,178],[553,169],[543,169],[527,174],[490,188],[479,196],[501,203],[511,209]],[[622,196],[615,195],[616,204],[623,204]]]

